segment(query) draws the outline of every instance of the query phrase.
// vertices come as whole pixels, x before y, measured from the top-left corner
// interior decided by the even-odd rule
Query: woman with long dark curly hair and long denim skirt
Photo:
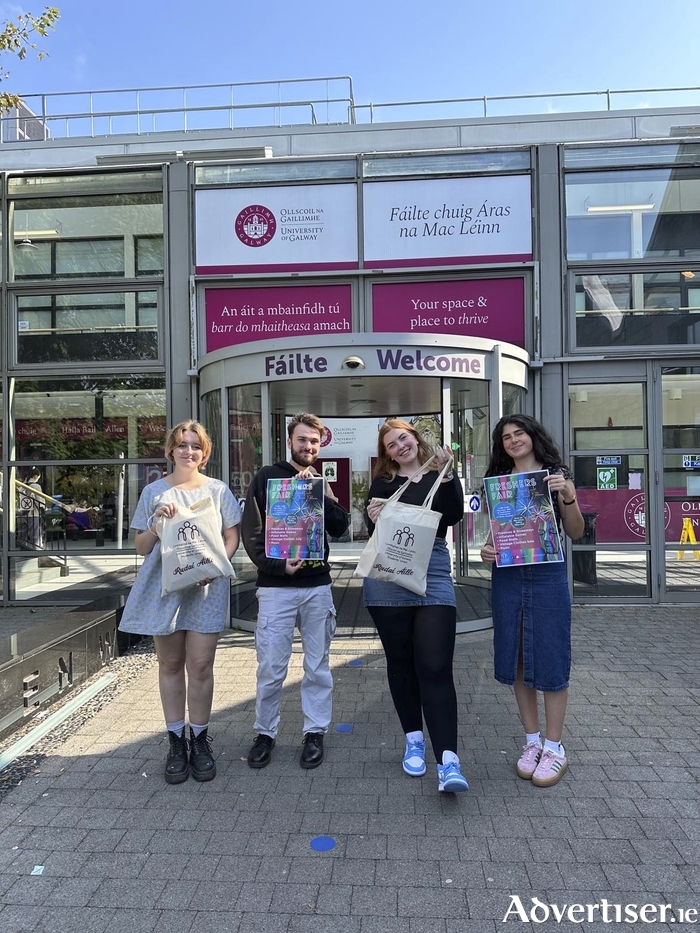
[[[557,525],[570,538],[580,538],[584,522],[576,487],[554,440],[529,415],[506,415],[493,429],[491,460],[485,475],[535,470],[549,471],[546,480]],[[566,564],[544,561],[497,567],[490,534],[481,549],[481,559],[492,565],[494,675],[501,683],[513,686],[525,729],[525,745],[516,771],[538,787],[549,787],[567,770],[561,744],[571,671],[571,598]],[[544,693],[544,743],[538,690]]]

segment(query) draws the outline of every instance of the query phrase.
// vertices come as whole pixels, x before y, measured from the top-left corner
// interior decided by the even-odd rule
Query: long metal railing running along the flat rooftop
[[[483,95],[355,103],[348,75],[28,95],[0,119],[0,142],[255,127],[518,117],[698,107],[700,87]]]

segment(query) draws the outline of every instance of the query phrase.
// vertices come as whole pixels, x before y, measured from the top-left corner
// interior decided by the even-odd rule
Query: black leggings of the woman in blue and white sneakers
[[[454,606],[368,606],[386,654],[391,697],[404,732],[423,731],[433,753],[457,752],[457,694],[452,676]]]

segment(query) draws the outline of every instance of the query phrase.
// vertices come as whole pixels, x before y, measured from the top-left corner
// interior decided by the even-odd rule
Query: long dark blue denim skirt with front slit
[[[571,597],[566,564],[494,564],[491,581],[496,680],[515,683],[522,620],[523,683],[549,693],[565,690],[571,673]]]

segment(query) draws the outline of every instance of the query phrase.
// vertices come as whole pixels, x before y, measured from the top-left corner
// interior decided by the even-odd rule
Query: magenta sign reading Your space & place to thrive
[[[522,278],[374,285],[372,313],[376,333],[457,334],[525,346]]]

